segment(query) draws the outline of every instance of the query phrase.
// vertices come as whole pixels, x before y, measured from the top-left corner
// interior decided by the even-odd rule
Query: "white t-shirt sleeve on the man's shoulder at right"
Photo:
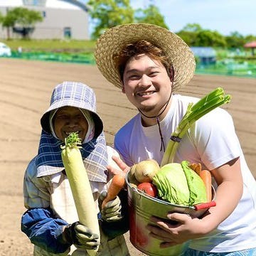
[[[198,119],[191,137],[201,160],[211,170],[240,156],[241,147],[233,119],[223,109],[216,109]]]

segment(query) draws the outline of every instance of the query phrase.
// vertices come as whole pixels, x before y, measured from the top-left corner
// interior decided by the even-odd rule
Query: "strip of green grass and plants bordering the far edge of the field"
[[[30,60],[50,60],[61,62],[95,64],[93,52],[95,41],[79,40],[0,40],[12,50],[11,58],[24,58]],[[18,47],[22,47],[22,54]],[[243,77],[256,77],[256,58],[246,52],[240,56],[233,54],[232,50],[216,49],[216,65],[197,65],[196,73],[238,75]]]

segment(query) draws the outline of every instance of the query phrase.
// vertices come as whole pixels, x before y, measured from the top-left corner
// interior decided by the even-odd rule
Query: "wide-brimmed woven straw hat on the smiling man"
[[[152,24],[132,23],[108,29],[97,40],[95,60],[102,75],[113,85],[122,88],[119,70],[113,56],[129,43],[146,40],[161,48],[174,67],[174,87],[186,85],[196,68],[195,58],[188,45],[175,33]]]

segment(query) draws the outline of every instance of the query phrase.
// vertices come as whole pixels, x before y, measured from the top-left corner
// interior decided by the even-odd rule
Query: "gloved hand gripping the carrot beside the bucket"
[[[98,199],[99,202],[99,208],[100,213],[102,215],[102,220],[105,220],[107,222],[117,221],[122,219],[122,213],[121,213],[121,201],[119,199],[119,196],[114,198],[114,200],[107,202],[105,204],[105,207],[102,209],[102,202],[107,196],[107,192],[103,191],[100,194],[100,197]]]

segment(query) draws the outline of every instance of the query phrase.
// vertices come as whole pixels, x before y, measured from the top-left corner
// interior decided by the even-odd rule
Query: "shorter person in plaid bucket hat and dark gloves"
[[[118,154],[106,146],[92,88],[80,82],[57,85],[50,107],[41,117],[41,126],[38,154],[28,164],[24,176],[24,205],[28,210],[21,218],[21,230],[35,245],[34,255],[87,255],[86,250],[98,245],[98,235],[78,222],[60,145],[70,132],[78,132],[97,207],[98,199],[102,201],[106,196],[110,181],[106,166]],[[129,255],[122,235],[128,229],[123,197],[124,191],[107,203],[101,214],[99,209],[101,235],[97,255]]]

